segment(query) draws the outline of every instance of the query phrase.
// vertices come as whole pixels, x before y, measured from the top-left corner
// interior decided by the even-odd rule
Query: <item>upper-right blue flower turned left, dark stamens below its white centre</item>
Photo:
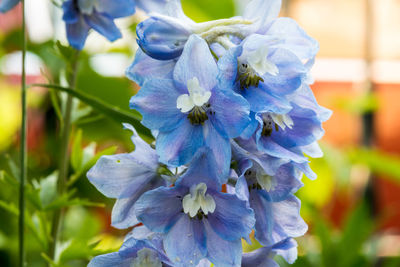
[[[281,48],[274,37],[252,34],[218,61],[219,79],[226,88],[241,94],[252,112],[286,113],[292,94],[308,75],[303,62]]]

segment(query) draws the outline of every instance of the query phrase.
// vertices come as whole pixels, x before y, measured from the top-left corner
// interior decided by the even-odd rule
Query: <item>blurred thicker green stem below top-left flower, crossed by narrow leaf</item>
[[[68,85],[72,89],[76,87],[76,76],[78,70],[78,58],[79,51],[76,51],[75,55],[71,59],[70,66],[68,71]],[[73,96],[68,95],[67,103],[65,107],[64,113],[64,126],[61,132],[61,146],[60,146],[60,162],[59,162],[59,174],[58,174],[58,194],[62,195],[66,192],[67,189],[67,179],[68,179],[68,170],[69,170],[69,136],[71,130],[71,115],[72,115],[72,104],[73,104]],[[59,239],[59,233],[62,228],[62,222],[64,217],[64,209],[59,209],[55,211],[51,236],[52,242],[50,244],[50,253],[49,255],[52,257],[54,261],[56,261],[56,247],[57,240]]]

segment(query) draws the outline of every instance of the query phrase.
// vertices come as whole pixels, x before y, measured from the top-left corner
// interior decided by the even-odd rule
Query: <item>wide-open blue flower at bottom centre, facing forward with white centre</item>
[[[174,266],[196,266],[203,258],[240,266],[241,238],[250,234],[254,214],[246,201],[220,192],[214,160],[209,149],[201,149],[174,187],[147,192],[135,205],[139,221],[164,235]]]

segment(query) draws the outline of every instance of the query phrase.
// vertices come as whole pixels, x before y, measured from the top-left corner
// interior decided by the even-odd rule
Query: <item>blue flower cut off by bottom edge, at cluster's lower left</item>
[[[150,234],[146,239],[137,239],[129,234],[118,252],[94,257],[88,267],[170,267],[172,263],[162,249],[159,235]]]

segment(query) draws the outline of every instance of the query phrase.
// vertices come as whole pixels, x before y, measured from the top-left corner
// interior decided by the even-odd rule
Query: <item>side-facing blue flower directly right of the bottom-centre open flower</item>
[[[303,186],[302,173],[291,163],[267,155],[252,155],[236,143],[233,145],[239,179],[236,193],[249,201],[254,210],[255,237],[265,246],[307,231],[300,217],[300,200],[293,194]]]

